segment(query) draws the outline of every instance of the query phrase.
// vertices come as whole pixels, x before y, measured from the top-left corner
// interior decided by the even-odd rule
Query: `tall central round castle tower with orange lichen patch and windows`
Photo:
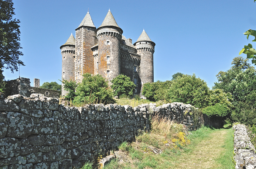
[[[120,74],[120,45],[123,30],[117,25],[110,10],[97,29],[98,73],[111,81]]]

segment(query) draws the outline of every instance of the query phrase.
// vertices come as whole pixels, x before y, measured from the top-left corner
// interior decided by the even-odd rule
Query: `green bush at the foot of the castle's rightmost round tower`
[[[172,81],[156,81],[153,83],[145,83],[142,89],[142,95],[148,100],[156,102],[166,99],[166,92],[171,86]]]

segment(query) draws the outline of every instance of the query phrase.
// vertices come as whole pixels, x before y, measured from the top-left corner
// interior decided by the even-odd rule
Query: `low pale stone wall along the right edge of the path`
[[[234,160],[236,169],[254,169],[256,167],[255,148],[250,141],[245,125],[237,124],[234,131]]]

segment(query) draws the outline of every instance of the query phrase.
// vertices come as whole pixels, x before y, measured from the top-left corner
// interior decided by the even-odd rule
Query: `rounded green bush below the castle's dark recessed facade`
[[[114,91],[114,96],[126,95],[132,97],[133,90],[136,85],[131,81],[126,75],[120,74],[116,76],[112,81],[110,86]]]

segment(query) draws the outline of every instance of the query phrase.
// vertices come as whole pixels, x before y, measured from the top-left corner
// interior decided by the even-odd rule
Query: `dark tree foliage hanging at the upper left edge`
[[[19,60],[20,51],[19,19],[13,19],[12,0],[0,0],[0,68],[18,71],[18,65],[24,65]]]

